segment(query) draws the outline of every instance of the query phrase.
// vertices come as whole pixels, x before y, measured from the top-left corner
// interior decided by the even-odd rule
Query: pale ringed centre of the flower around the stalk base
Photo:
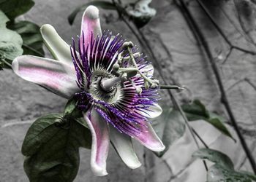
[[[91,85],[89,93],[95,100],[104,100],[106,103],[115,103],[121,96],[120,83],[113,84],[108,90],[102,87],[102,83],[107,79],[113,79],[116,76],[108,71],[95,70],[91,75]]]

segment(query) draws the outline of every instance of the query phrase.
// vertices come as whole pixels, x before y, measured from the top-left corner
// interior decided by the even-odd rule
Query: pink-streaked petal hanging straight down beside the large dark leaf
[[[109,128],[107,122],[99,116],[94,108],[83,115],[91,130],[91,170],[94,175],[108,175],[106,170],[106,159],[109,149]]]

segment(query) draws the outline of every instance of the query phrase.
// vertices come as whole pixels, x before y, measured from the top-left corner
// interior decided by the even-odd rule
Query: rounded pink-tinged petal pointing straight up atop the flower
[[[82,25],[81,25],[81,36],[84,36],[84,43],[90,44],[91,33],[96,39],[97,36],[102,36],[102,29],[99,23],[99,9],[94,6],[89,6],[83,13]],[[82,43],[83,41],[80,41]],[[81,45],[82,47],[82,45]]]

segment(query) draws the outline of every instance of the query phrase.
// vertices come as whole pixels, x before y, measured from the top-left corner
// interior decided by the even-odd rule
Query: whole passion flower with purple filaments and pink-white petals
[[[13,61],[12,69],[23,79],[64,98],[75,95],[91,130],[91,169],[95,175],[108,174],[106,159],[110,141],[132,169],[141,165],[132,138],[152,151],[165,149],[148,122],[148,118],[162,113],[157,104],[157,88],[144,86],[145,79],[153,76],[154,68],[141,56],[135,58],[136,66],[147,78],[140,74],[129,76],[126,68],[133,67],[128,62],[116,68],[118,55],[125,52],[124,40],[109,31],[102,33],[97,7],[89,6],[84,12],[78,44],[73,40],[72,47],[51,25],[42,25],[41,33],[55,60],[23,55]],[[133,48],[132,53],[135,52]],[[125,53],[124,58],[127,57]]]

